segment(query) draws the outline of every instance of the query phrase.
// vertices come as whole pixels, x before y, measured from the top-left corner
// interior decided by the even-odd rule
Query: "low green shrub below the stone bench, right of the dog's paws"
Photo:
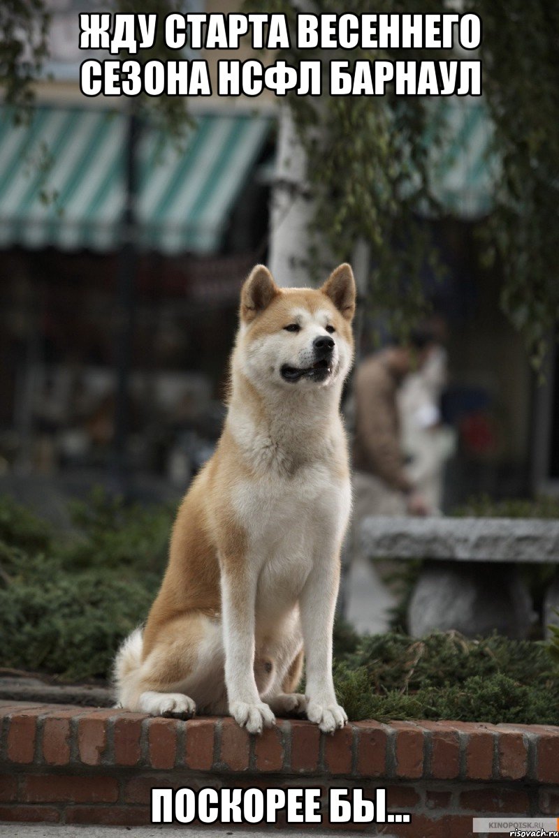
[[[559,670],[542,642],[376,634],[337,657],[350,718],[559,724]]]

